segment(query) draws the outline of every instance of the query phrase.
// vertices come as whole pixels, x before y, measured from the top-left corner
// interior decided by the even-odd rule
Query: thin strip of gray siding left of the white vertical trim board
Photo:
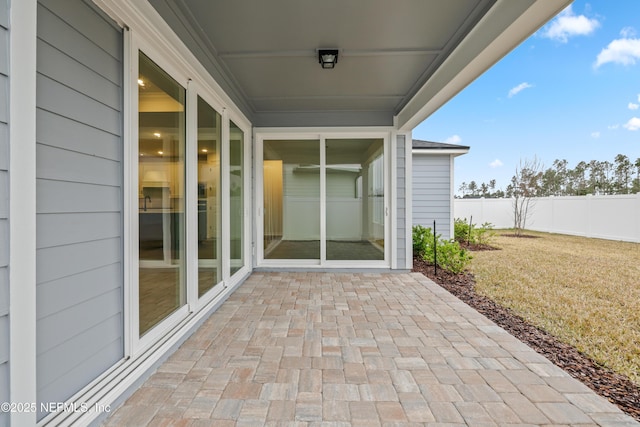
[[[9,402],[9,7],[0,0],[0,402]],[[9,414],[0,412],[0,427]]]

